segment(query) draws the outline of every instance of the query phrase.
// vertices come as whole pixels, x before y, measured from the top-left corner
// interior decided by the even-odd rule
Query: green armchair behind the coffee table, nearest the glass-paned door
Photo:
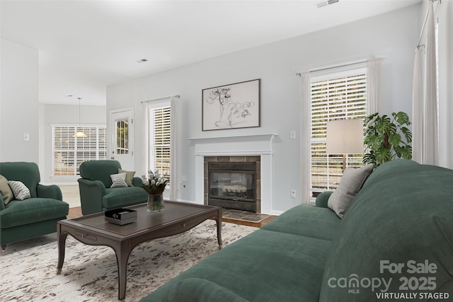
[[[77,181],[82,214],[88,215],[147,202],[148,194],[140,187],[141,178],[132,178],[130,187],[110,187],[113,183],[110,175],[117,174],[119,170],[121,170],[119,161],[81,163],[81,178]]]

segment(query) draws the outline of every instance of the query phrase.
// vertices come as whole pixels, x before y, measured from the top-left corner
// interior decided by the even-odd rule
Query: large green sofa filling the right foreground
[[[316,207],[289,209],[142,301],[452,301],[453,170],[384,163],[343,219],[325,207],[329,194]]]

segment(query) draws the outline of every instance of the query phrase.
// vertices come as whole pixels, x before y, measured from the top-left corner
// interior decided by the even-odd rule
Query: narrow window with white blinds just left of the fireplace
[[[149,168],[170,179],[170,101],[149,104]]]

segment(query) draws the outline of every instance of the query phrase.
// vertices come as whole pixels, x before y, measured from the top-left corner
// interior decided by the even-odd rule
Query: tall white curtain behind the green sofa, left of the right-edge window
[[[428,8],[426,30],[425,121],[423,123],[423,163],[439,164],[439,137],[437,132],[437,79],[435,54],[435,25],[432,2]]]

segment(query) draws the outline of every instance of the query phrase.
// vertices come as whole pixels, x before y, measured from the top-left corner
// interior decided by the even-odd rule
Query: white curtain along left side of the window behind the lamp
[[[308,204],[311,198],[311,83],[310,73],[301,74],[301,196],[302,203]]]

